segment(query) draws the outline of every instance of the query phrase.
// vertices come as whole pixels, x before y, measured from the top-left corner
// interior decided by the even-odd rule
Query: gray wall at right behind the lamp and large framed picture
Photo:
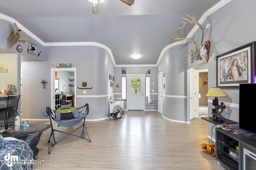
[[[206,20],[203,25],[211,23],[209,30],[205,31],[204,41],[210,41],[210,58],[208,61],[208,90],[211,87],[216,87],[216,56],[242,45],[256,41],[255,31],[255,15],[256,1],[236,1],[233,0],[214,12]],[[197,31],[199,35],[202,33]],[[195,37],[198,35],[196,34]],[[199,36],[198,35],[198,36]],[[192,49],[190,43],[188,49]],[[200,64],[203,61],[196,61],[194,64]],[[188,68],[194,66],[188,60]],[[238,88],[222,88],[228,95],[227,97],[219,98],[219,101],[226,103],[222,115],[233,121],[239,121],[239,89]],[[212,99],[208,98],[208,113],[211,117]],[[237,127],[238,125],[232,125]],[[211,135],[212,124],[208,125],[208,134]]]

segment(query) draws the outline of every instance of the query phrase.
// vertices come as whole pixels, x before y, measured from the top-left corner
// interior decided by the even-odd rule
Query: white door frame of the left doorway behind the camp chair
[[[76,87],[76,68],[51,68],[51,108],[55,109],[55,71],[74,71],[74,87]],[[74,107],[76,107],[76,88],[74,88]]]

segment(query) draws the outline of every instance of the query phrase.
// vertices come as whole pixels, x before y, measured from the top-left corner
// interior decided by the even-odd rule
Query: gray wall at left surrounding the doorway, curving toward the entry
[[[76,89],[76,107],[81,107],[88,103],[90,114],[88,119],[102,119],[108,115],[109,96],[114,93],[114,88],[110,87],[109,74],[114,74],[114,65],[109,54],[105,49],[95,46],[64,46],[64,47],[46,47],[44,62],[23,62],[23,80],[35,80],[36,83],[30,87],[25,85],[23,97],[27,100],[23,103],[23,113],[27,119],[44,119],[42,112],[46,106],[50,106],[50,82],[51,71],[54,63],[72,63],[76,68],[76,83],[82,87],[82,82],[87,82],[86,94],[83,89]],[[105,61],[105,62],[102,62]],[[29,74],[31,70],[44,70],[36,74]],[[40,81],[46,80],[46,87],[42,89]],[[38,86],[35,86],[38,84]],[[34,86],[34,87],[32,87]],[[68,86],[68,84],[67,84]],[[68,88],[68,87],[67,87]],[[25,92],[29,89],[30,92]],[[32,94],[38,94],[40,98],[35,98]],[[34,113],[33,110],[37,110]]]

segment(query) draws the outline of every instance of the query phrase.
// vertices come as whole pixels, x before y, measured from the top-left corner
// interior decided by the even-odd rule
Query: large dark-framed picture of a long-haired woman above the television
[[[217,87],[239,88],[254,82],[255,41],[216,56]]]

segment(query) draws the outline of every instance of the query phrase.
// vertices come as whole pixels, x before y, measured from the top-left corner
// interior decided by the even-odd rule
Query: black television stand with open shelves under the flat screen
[[[250,138],[256,135],[250,135],[251,133],[242,129],[232,128],[232,130],[237,130],[239,134],[236,135],[233,131],[224,131],[220,127],[215,128],[217,163],[227,170],[254,170],[256,159],[245,156],[244,150],[256,155],[256,141]],[[245,166],[246,168],[244,168]]]

